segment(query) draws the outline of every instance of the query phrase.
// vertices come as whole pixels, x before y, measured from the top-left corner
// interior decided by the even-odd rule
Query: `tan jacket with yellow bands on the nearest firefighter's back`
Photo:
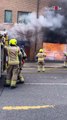
[[[7,60],[8,65],[19,65],[19,55],[21,51],[17,46],[8,46],[7,49]]]

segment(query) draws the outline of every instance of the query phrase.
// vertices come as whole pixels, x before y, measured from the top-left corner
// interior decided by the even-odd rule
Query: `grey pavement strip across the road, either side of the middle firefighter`
[[[25,62],[23,65],[22,73],[38,73],[37,72],[37,62]],[[64,62],[55,62],[55,61],[46,61],[45,62],[46,71],[55,70],[55,69],[65,69]]]

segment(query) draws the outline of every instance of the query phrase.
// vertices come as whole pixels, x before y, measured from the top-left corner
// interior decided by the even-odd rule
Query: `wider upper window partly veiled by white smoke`
[[[17,22],[27,24],[27,22],[28,22],[28,14],[29,14],[29,12],[18,11]]]

